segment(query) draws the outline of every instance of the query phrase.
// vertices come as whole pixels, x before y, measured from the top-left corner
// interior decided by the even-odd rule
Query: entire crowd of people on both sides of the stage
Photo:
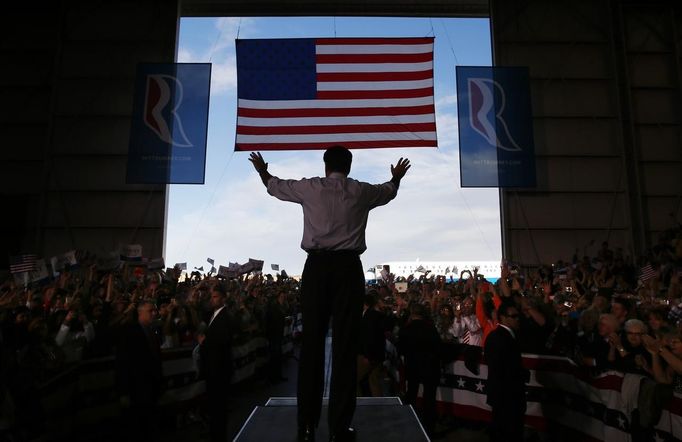
[[[649,271],[642,275],[642,269]],[[301,281],[295,278],[252,273],[226,279],[136,263],[100,271],[87,260],[28,287],[8,275],[0,286],[0,424],[39,431],[40,386],[83,359],[115,355],[142,305],[149,307],[161,350],[197,346],[212,319],[216,287],[226,294],[233,345],[264,336],[281,348],[284,318],[296,318],[300,308]],[[604,242],[593,257],[576,255],[536,268],[503,263],[494,282],[477,269],[456,279],[386,272],[366,292],[359,395],[401,393],[391,373],[404,363],[407,401],[415,402],[416,383],[424,385],[425,399],[435,400],[441,365],[453,348],[470,349],[472,361],[480,357],[502,302],[518,309],[522,352],[570,357],[594,371],[645,375],[661,387],[654,395],[658,402],[682,393],[680,228],[665,232],[638,259]],[[271,358],[276,365],[267,376],[276,381],[281,358],[277,351]],[[428,404],[421,418],[432,431],[435,409]],[[656,418],[648,416],[648,423]]]

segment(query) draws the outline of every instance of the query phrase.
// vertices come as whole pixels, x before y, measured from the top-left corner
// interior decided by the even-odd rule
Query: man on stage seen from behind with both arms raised
[[[303,207],[303,240],[308,252],[303,269],[301,310],[303,339],[298,370],[299,440],[315,438],[324,387],[324,344],[332,318],[332,379],[329,400],[331,440],[354,440],[349,427],[355,412],[357,329],[365,277],[360,255],[367,248],[369,211],[395,198],[410,168],[401,158],[392,178],[368,184],[348,178],[353,155],[341,146],[324,153],[325,177],[283,180],[268,172],[260,153],[249,160],[268,189],[282,201]]]

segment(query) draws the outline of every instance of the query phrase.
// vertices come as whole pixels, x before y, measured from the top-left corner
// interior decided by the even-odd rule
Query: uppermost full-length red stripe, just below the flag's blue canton
[[[240,107],[237,115],[254,118],[292,117],[366,117],[376,115],[421,115],[432,114],[433,105],[405,107],[349,107],[309,109],[250,109]]]

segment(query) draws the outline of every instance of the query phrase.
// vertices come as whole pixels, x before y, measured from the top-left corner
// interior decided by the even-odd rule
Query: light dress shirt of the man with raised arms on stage
[[[268,193],[303,207],[303,250],[354,250],[360,254],[367,249],[369,211],[395,198],[398,189],[390,181],[369,184],[333,172],[326,178],[272,177]]]

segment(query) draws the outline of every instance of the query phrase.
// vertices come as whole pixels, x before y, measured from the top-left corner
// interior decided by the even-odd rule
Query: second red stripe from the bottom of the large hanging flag
[[[242,135],[338,134],[368,132],[435,132],[436,123],[348,124],[321,126],[237,126]]]

